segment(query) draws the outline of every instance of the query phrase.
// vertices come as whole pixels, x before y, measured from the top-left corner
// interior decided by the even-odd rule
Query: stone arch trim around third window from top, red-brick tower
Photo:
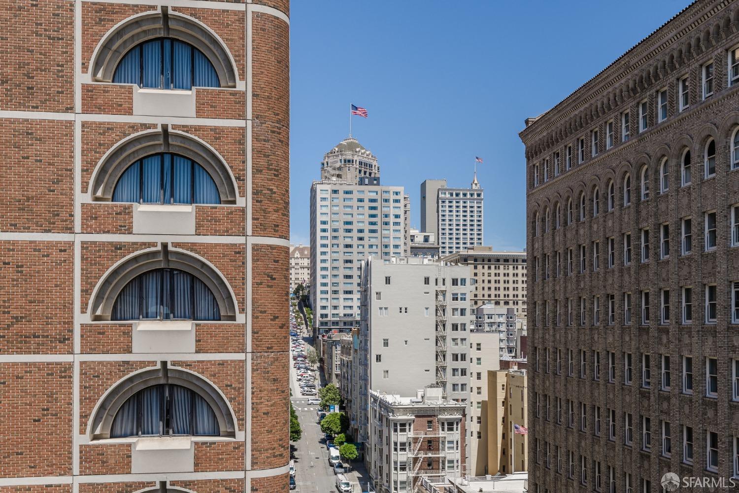
[[[166,244],[136,251],[115,262],[92,290],[87,302],[90,320],[110,320],[113,303],[120,290],[140,273],[163,267],[177,268],[196,276],[216,297],[221,320],[236,320],[239,313],[236,294],[223,273],[202,256],[182,248],[170,248]]]

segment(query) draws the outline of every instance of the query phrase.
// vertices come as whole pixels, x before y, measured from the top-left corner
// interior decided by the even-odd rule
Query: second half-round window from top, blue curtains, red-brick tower
[[[219,204],[218,187],[208,171],[187,157],[162,152],[137,160],[120,175],[113,202]]]

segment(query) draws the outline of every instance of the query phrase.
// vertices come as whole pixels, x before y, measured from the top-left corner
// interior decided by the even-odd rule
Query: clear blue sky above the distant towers
[[[485,244],[525,247],[523,120],[550,109],[689,0],[293,0],[290,239],[310,244],[310,183],[349,133],[404,186],[486,190]],[[636,15],[638,13],[638,15]]]

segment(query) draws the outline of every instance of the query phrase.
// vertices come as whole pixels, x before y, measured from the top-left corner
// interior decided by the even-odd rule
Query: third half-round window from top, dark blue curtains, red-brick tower
[[[140,273],[113,303],[111,320],[220,320],[216,297],[191,273],[159,268]]]

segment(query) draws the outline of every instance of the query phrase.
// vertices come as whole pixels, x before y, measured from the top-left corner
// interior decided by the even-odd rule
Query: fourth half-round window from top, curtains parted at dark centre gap
[[[139,390],[118,409],[111,438],[140,436],[218,436],[218,418],[194,390],[159,384]]]

